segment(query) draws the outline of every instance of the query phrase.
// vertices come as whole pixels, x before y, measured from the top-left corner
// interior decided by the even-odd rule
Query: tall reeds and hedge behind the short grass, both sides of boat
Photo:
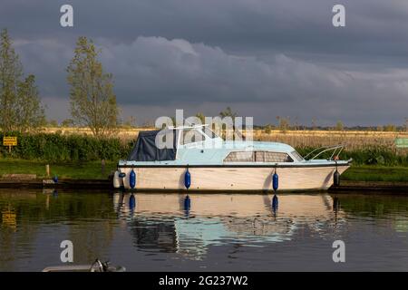
[[[11,153],[7,147],[0,147],[0,157],[15,158],[22,160],[44,160],[48,162],[87,162],[96,160],[120,160],[127,157],[134,145],[138,131],[128,135],[112,136],[105,138],[96,138],[88,134],[76,134],[72,132],[63,133],[55,131],[54,133],[1,133],[0,140],[3,136],[16,136],[18,143],[13,147]],[[282,141],[282,134],[275,134],[258,140]],[[358,137],[363,140],[364,133]],[[351,137],[355,140],[355,137]],[[285,142],[292,145],[305,156],[311,150],[325,145],[334,145],[332,141],[314,141],[315,146],[310,146],[310,137],[299,134],[295,142],[286,140]],[[387,144],[387,142],[389,144]],[[294,144],[296,143],[296,144]],[[393,142],[387,136],[383,140],[378,137],[374,140],[368,137],[365,143],[363,141],[350,145],[346,138],[343,138],[345,150],[340,154],[343,160],[353,159],[355,165],[379,165],[379,166],[408,166],[408,150],[397,149]],[[305,146],[305,145],[308,146]],[[322,158],[329,157],[324,155]]]

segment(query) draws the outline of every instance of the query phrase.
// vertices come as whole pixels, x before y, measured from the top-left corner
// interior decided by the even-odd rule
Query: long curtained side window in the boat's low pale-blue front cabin
[[[230,152],[224,162],[293,162],[293,159],[283,152],[271,151],[235,151]]]

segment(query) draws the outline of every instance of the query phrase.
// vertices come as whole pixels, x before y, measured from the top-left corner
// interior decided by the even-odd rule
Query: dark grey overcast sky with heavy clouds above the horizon
[[[73,27],[60,7],[73,5]],[[345,27],[332,8],[345,5]],[[69,118],[65,69],[93,39],[124,118],[230,106],[256,124],[403,124],[408,117],[406,0],[1,0],[25,73],[49,119]]]

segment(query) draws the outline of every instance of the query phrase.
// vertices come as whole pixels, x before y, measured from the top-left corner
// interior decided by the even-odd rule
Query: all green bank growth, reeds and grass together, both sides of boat
[[[147,129],[144,129],[147,130]],[[138,131],[121,137],[96,138],[92,134],[56,131],[40,133],[13,132],[18,144],[11,153],[0,147],[0,176],[23,173],[45,177],[45,165],[50,164],[51,175],[66,179],[106,179],[116,169],[117,161],[126,159],[134,145]],[[282,138],[275,134],[272,140]],[[6,134],[10,135],[10,134]],[[306,136],[306,137],[305,137]],[[364,132],[358,137],[363,140]],[[369,136],[369,135],[368,135]],[[270,138],[270,136],[268,136]],[[342,160],[353,159],[353,165],[342,176],[347,180],[408,182],[408,150],[397,149],[389,137],[367,138],[364,146],[351,146],[340,154]],[[0,133],[0,140],[3,134]],[[310,137],[299,134],[298,143],[308,144]],[[344,139],[346,140],[346,139]],[[291,144],[290,141],[287,143]],[[333,143],[332,143],[333,144]],[[316,147],[323,144],[316,143]],[[347,144],[345,144],[347,145]],[[297,146],[303,156],[316,147]],[[323,158],[328,156],[323,156]],[[105,167],[102,172],[102,160]]]

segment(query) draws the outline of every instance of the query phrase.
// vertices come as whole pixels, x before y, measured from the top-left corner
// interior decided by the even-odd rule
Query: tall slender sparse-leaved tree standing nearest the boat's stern
[[[73,60],[67,68],[71,85],[73,121],[88,126],[97,137],[111,133],[118,124],[118,107],[112,74],[104,73],[92,40],[79,37]]]

